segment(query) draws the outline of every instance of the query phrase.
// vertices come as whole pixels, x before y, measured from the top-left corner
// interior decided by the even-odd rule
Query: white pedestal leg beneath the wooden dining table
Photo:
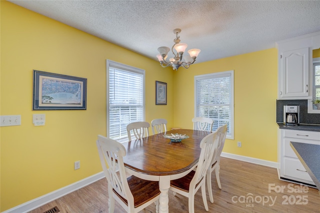
[[[168,213],[169,212],[169,198],[168,190],[170,188],[170,177],[169,176],[160,176],[159,179],[159,190],[161,192],[159,198],[159,213]]]

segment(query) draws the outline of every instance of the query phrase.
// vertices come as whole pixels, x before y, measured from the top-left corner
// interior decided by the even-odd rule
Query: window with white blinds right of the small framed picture
[[[233,70],[194,76],[195,117],[213,120],[212,131],[227,125],[228,139],[233,131]]]

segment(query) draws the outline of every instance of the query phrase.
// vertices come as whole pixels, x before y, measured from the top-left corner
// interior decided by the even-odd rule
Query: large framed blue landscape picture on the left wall
[[[86,78],[33,70],[32,110],[86,109]]]

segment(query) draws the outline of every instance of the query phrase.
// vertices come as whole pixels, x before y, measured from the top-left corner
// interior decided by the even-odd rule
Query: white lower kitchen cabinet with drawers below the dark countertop
[[[320,132],[279,129],[279,176],[281,180],[314,185],[295,155],[290,142],[320,145]]]

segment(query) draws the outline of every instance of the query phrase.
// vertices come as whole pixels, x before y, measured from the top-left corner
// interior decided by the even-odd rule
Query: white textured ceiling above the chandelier
[[[187,49],[201,49],[196,63],[320,31],[320,0],[9,1],[154,60],[175,28]]]

